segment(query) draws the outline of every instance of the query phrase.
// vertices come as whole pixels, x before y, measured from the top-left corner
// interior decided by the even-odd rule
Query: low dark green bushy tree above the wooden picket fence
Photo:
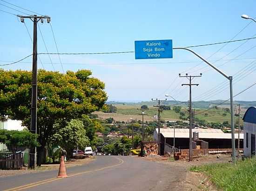
[[[13,153],[24,150],[29,146],[39,146],[35,134],[27,130],[0,129],[0,142],[5,144]]]

